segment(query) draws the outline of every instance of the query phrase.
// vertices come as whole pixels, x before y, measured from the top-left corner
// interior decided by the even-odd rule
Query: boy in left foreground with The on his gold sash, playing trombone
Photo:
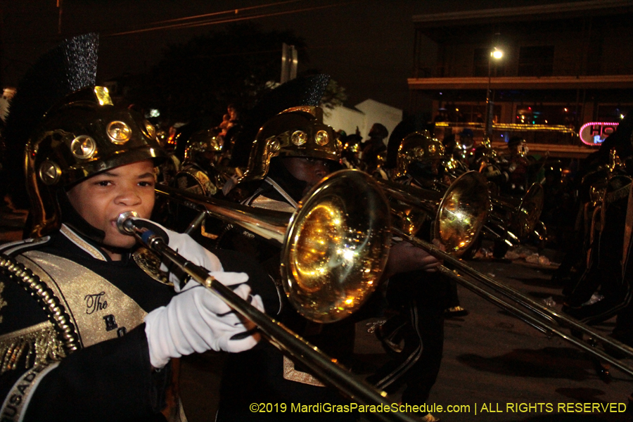
[[[94,44],[94,35],[75,37],[51,54],[85,58]],[[77,63],[90,68],[90,60]],[[26,85],[21,94],[11,124],[28,120],[15,114],[26,113],[28,101],[45,98]],[[134,237],[117,229],[122,212],[151,216],[154,167],[165,157],[153,126],[113,106],[106,89],[88,86],[58,101],[37,127],[23,129],[31,132],[31,237],[0,247],[2,419],[182,420],[173,359],[241,352],[258,336],[209,290],[167,267],[165,276],[151,271],[135,253]],[[224,271],[217,256],[186,235],[165,234],[171,248],[263,310],[247,274]]]

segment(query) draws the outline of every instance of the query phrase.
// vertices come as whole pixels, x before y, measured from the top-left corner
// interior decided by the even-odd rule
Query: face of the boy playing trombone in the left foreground
[[[117,217],[136,211],[149,218],[154,207],[153,162],[143,160],[115,167],[73,186],[68,191],[72,207],[91,226],[106,233],[103,243],[114,248],[132,248],[134,237],[121,234]]]

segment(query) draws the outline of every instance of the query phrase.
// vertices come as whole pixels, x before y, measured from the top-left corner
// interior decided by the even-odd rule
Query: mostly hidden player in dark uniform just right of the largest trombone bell
[[[442,175],[443,157],[442,143],[428,132],[404,136],[397,148],[395,181],[433,188]],[[416,232],[422,238],[428,238],[423,233],[432,233],[430,220],[426,217],[424,222],[418,222]],[[394,274],[389,279],[387,299],[396,314],[376,333],[396,359],[385,364],[370,380],[386,390],[397,390],[406,384],[402,402],[426,402],[442,362],[444,316],[463,316],[468,311],[459,305],[454,281],[421,269]],[[434,420],[433,415],[426,416],[426,421]]]

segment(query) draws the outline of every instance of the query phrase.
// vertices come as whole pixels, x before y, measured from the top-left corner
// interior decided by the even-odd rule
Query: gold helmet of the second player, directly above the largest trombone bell
[[[323,110],[300,106],[283,110],[257,132],[247,179],[263,179],[274,157],[311,157],[340,162],[341,145],[334,129],[323,122]]]

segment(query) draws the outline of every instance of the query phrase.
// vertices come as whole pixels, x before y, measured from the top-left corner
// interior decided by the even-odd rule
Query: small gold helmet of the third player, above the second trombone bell
[[[403,177],[411,171],[411,165],[419,165],[434,160],[442,160],[444,146],[432,138],[428,131],[414,132],[402,139],[396,156],[394,177]]]

